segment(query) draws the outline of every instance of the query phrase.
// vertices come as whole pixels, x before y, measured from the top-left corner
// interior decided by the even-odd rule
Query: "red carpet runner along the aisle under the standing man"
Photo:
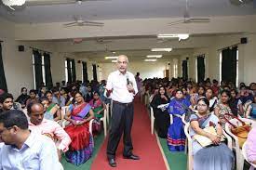
[[[117,166],[112,168],[106,157],[107,138],[101,150],[92,163],[91,170],[166,170],[161,151],[158,148],[155,136],[150,132],[150,119],[145,107],[136,98],[134,103],[134,120],[132,125],[133,152],[141,157],[139,161],[123,159],[123,138],[121,137],[116,151]]]

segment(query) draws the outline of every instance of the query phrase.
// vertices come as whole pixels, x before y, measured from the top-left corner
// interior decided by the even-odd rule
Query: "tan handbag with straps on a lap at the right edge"
[[[235,125],[232,124],[229,120],[227,120],[224,117],[225,121],[231,125],[231,132],[238,138],[238,144],[239,147],[242,148],[243,144],[245,143],[245,141],[247,140],[249,131],[251,129],[251,125],[250,124],[246,124],[244,121],[242,121],[241,119],[239,119],[238,117],[234,116],[233,114],[229,114],[229,113],[225,113],[224,115],[229,115],[232,118],[235,118],[236,120],[238,120],[240,123],[242,123],[242,125]]]

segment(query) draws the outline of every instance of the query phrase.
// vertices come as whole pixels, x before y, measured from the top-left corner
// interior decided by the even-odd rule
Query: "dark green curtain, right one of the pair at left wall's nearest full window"
[[[48,89],[52,88],[52,77],[51,77],[51,71],[50,71],[50,55],[47,53],[44,53],[44,62],[45,62],[45,76],[46,76],[46,85]]]

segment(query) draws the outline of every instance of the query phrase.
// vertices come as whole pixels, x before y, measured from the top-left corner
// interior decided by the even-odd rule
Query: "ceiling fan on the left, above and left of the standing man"
[[[104,23],[83,20],[82,17],[79,17],[79,18],[74,17],[73,22],[64,23],[63,26],[64,27],[75,27],[75,26],[79,26],[79,27],[82,27],[82,26],[102,27],[102,26],[104,26]]]

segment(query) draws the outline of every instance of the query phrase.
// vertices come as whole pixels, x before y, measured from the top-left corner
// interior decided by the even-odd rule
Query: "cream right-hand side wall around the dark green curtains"
[[[248,43],[239,44],[240,38],[247,37]],[[241,33],[234,35],[216,36],[212,45],[208,48],[195,49],[194,58],[197,55],[206,55],[206,77],[210,79],[220,80],[220,58],[221,50],[226,46],[238,45],[238,82],[245,82],[249,85],[251,82],[256,82],[256,34]],[[195,66],[194,66],[195,67]]]

